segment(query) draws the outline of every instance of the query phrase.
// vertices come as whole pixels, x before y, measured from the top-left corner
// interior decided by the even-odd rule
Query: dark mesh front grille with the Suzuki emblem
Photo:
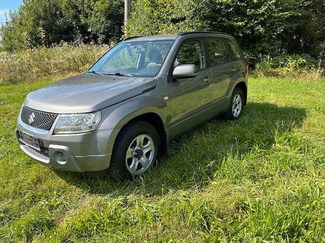
[[[26,106],[23,106],[20,118],[23,123],[31,127],[49,131],[54,123],[56,116],[57,114],[33,110]]]

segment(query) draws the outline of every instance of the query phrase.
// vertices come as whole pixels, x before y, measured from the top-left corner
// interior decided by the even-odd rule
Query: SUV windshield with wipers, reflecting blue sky
[[[120,43],[90,69],[102,74],[154,76],[163,65],[173,41],[135,41]]]

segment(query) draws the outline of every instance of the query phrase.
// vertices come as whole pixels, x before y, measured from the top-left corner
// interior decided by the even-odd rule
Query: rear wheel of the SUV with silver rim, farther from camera
[[[228,110],[222,115],[223,118],[229,120],[237,120],[241,117],[244,107],[244,94],[239,88],[235,88]]]

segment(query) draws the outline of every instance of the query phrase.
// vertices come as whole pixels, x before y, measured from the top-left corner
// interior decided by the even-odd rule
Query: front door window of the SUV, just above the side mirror
[[[174,62],[174,68],[183,64],[194,64],[198,70],[206,68],[204,48],[201,39],[188,39],[181,44]]]

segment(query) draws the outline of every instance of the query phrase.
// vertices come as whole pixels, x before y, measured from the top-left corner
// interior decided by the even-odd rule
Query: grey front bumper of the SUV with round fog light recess
[[[53,127],[47,134],[39,134],[18,121],[17,131],[36,137],[44,144],[44,149],[38,151],[18,139],[22,151],[42,165],[57,170],[90,172],[109,168],[111,151],[107,149],[112,130],[54,135]]]

